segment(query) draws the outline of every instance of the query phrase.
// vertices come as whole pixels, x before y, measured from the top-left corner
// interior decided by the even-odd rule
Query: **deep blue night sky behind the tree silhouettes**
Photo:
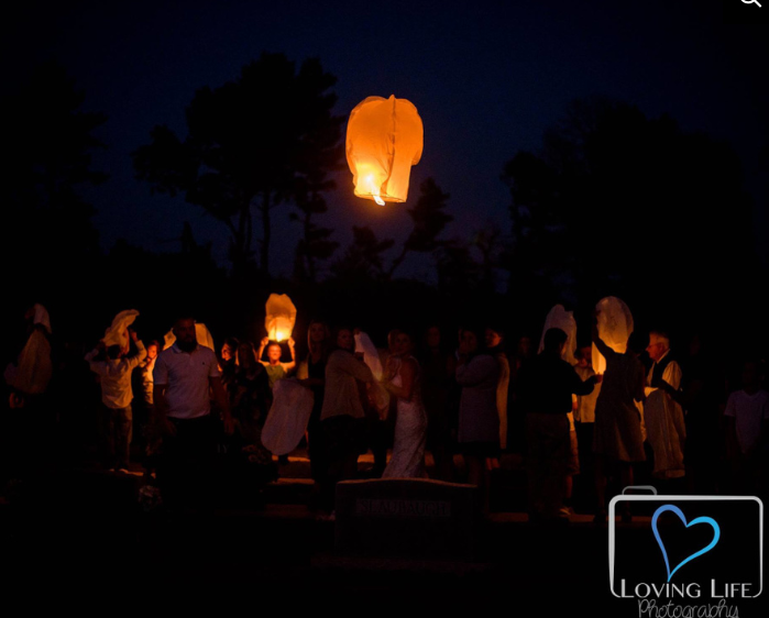
[[[769,11],[769,2],[741,7]],[[685,131],[728,141],[756,200],[757,239],[769,227],[769,25],[725,24],[718,1],[33,1],[0,27],[3,88],[53,57],[86,91],[85,109],[109,117],[98,131],[109,147],[96,153],[94,168],[110,180],[86,192],[105,250],[122,236],[176,251],[173,239],[189,221],[226,264],[224,227],[183,197],[152,196],[134,179],[130,153],[149,143],[155,124],[184,137],[195,91],[237,78],[263,51],[297,66],[319,57],[338,78],[339,114],[372,95],[417,106],[425,152],[406,207],[432,176],[451,195],[455,218],[443,238],[468,238],[486,224],[508,231],[504,163],[537,148],[571,100],[593,95],[635,103],[648,117],[669,113]],[[329,213],[318,222],[336,228],[342,245],[353,223],[381,238],[408,233],[405,207],[354,198],[347,170],[327,200]],[[275,275],[290,274],[299,235],[288,212],[275,214],[275,236],[290,239],[283,250],[274,243]],[[429,269],[410,256],[399,274],[429,278]]]

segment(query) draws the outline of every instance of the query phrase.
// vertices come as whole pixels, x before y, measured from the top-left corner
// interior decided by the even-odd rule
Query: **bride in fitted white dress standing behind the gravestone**
[[[395,339],[396,356],[387,362],[384,387],[397,398],[393,456],[382,478],[425,478],[427,412],[421,400],[419,364],[408,333]]]

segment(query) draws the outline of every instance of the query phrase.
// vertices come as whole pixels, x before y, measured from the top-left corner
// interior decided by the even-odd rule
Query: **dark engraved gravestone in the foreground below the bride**
[[[337,484],[337,553],[367,558],[472,560],[474,485],[427,478]]]

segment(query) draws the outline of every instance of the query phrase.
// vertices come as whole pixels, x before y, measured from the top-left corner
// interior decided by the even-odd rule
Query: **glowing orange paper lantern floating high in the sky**
[[[411,166],[421,158],[424,130],[414,103],[406,99],[369,97],[350,113],[347,155],[355,195],[404,202]]]

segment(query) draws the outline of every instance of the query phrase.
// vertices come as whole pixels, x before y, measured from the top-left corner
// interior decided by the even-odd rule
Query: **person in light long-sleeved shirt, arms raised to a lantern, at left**
[[[136,347],[131,355],[129,355],[130,347],[121,349],[120,345],[105,347],[103,341],[86,354],[88,366],[99,376],[101,383],[102,431],[108,457],[105,463],[116,472],[128,472],[133,430],[131,373],[146,356],[144,344],[139,340],[135,331],[129,330],[129,333]],[[102,352],[106,354],[106,360],[98,360]]]

